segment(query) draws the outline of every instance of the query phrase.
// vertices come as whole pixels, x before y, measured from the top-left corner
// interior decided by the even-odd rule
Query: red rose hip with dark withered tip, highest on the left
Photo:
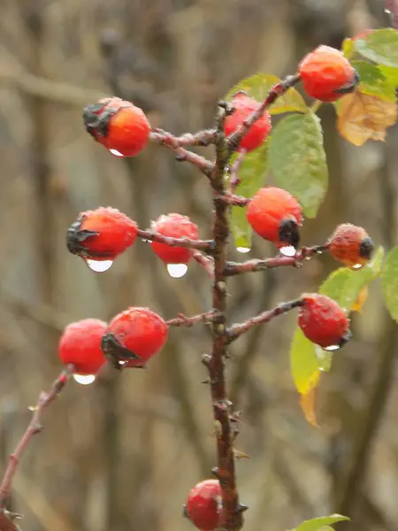
[[[113,155],[134,157],[149,142],[150,125],[142,109],[119,97],[108,97],[83,110],[86,129]]]

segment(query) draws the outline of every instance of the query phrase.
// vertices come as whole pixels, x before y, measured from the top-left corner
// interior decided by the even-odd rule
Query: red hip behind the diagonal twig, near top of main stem
[[[241,124],[253,114],[260,104],[245,92],[238,92],[233,96],[233,114],[226,117],[224,132],[226,136],[232,135]],[[256,120],[249,132],[243,136],[239,148],[241,150],[256,150],[269,135],[272,129],[270,113],[264,111],[263,116]]]

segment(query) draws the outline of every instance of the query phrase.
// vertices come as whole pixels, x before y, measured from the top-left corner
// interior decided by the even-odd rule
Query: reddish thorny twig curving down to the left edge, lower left
[[[5,469],[3,481],[0,484],[0,511],[4,512],[7,498],[10,496],[12,479],[17,472],[19,460],[22,457],[23,452],[26,450],[27,444],[34,435],[42,431],[41,416],[43,409],[55,400],[62,389],[64,389],[65,384],[73,373],[73,368],[72,365],[67,366],[52,384],[50,392],[42,392],[40,394],[37,404],[34,406],[32,419],[30,420],[24,435],[22,435],[19,440],[16,449],[11,454],[7,468]]]

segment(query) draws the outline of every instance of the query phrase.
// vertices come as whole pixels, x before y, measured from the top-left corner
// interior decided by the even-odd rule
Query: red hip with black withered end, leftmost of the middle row
[[[137,224],[110,206],[80,212],[69,227],[67,247],[81,258],[110,260],[130,247],[137,237]]]

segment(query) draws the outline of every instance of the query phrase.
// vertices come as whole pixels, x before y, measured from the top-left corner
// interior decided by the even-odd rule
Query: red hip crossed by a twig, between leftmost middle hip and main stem
[[[197,240],[199,237],[195,223],[187,216],[175,213],[160,216],[152,222],[150,229],[171,238]],[[150,246],[165,264],[188,264],[192,257],[192,250],[183,247],[171,247],[159,242],[151,242]]]

